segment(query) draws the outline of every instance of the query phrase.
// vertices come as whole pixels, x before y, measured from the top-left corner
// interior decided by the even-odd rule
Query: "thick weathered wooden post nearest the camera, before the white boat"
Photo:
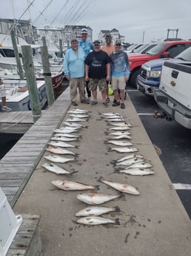
[[[30,45],[22,45],[23,66],[27,79],[27,86],[30,96],[30,105],[33,113],[33,121],[36,122],[41,117],[41,104],[36,86],[36,74],[33,64],[32,48]]]

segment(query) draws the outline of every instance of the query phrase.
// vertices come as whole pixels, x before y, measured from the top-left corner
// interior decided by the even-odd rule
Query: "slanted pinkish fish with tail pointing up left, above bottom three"
[[[115,188],[116,190],[121,191],[122,193],[135,194],[135,195],[140,194],[137,188],[131,185],[114,183],[113,181],[105,180],[103,177],[99,177],[98,181],[106,184],[107,186]]]

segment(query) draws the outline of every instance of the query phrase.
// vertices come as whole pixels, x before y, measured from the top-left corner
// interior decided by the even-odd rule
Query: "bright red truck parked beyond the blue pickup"
[[[148,50],[145,54],[133,54],[128,56],[130,63],[130,84],[136,87],[136,79],[140,73],[141,65],[153,59],[161,58],[174,58],[182,50],[182,47],[186,49],[191,45],[190,41],[167,41],[161,42],[152,49]]]

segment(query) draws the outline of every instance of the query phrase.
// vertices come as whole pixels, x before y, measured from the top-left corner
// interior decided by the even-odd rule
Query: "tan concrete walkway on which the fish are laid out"
[[[78,104],[77,108],[91,111],[88,122],[83,122],[88,128],[78,132],[82,139],[70,142],[78,145],[78,148],[68,148],[78,154],[77,160],[58,164],[69,171],[78,172],[73,176],[58,176],[41,167],[46,162],[42,157],[14,206],[14,212],[41,215],[39,229],[46,256],[190,256],[190,218],[130,98],[127,97],[125,101],[125,109],[112,107],[113,96],[110,99],[109,108],[102,106],[100,93],[99,105]],[[105,143],[110,138],[105,132],[112,126],[107,125],[99,113],[106,112],[118,112],[126,122],[133,125],[130,128],[133,147],[138,148],[138,154],[153,163],[155,174],[141,177],[114,173],[110,162],[127,154],[108,151],[115,146]],[[66,114],[64,119],[68,117],[69,114]],[[97,181],[101,176],[106,180],[135,186],[140,195],[125,194],[101,205],[118,206],[121,209],[120,212],[103,215],[112,220],[118,218],[119,226],[85,226],[76,223],[76,212],[86,206],[76,197],[81,191],[63,191],[51,182],[71,180],[100,185],[100,191],[89,190],[87,193],[118,194],[115,189]]]

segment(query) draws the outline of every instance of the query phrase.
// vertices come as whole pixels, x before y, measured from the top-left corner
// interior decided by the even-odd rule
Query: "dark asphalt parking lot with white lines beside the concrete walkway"
[[[127,92],[191,218],[191,131],[173,121],[155,119],[154,111],[160,113],[161,110],[152,97],[145,96],[131,85],[128,85]]]

